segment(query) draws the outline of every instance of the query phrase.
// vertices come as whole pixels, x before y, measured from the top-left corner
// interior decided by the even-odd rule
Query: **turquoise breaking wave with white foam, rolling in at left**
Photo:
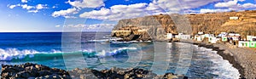
[[[0,48],[0,61],[37,61],[37,60],[49,60],[49,59],[63,59],[63,54],[68,54],[69,57],[73,57],[73,54],[83,54],[84,57],[106,57],[117,54],[124,54],[126,50],[136,50],[137,48],[116,48],[111,51],[102,50],[102,52],[96,53],[94,50],[82,50],[70,53],[63,53],[59,50],[53,49],[50,52],[38,52],[32,49],[18,50],[17,48]],[[75,56],[75,55],[74,55]]]

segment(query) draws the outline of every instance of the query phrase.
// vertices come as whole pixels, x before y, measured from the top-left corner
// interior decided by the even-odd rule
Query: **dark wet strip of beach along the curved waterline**
[[[256,74],[254,74],[253,72],[247,71],[247,69],[253,70],[253,66],[245,67],[243,65],[247,65],[247,64],[241,64],[241,61],[249,61],[249,60],[238,59],[241,57],[236,55],[236,54],[243,54],[243,51],[236,51],[237,53],[234,54],[234,53],[230,52],[230,49],[228,49],[229,47],[224,43],[210,44],[210,43],[205,43],[205,42],[194,42],[192,40],[183,40],[181,42],[191,43],[191,44],[197,45],[199,47],[204,47],[204,48],[212,48],[213,51],[217,51],[217,54],[222,56],[223,59],[227,59],[230,62],[230,64],[232,64],[239,71],[239,73],[241,74],[241,79],[256,78],[255,77]],[[224,48],[224,47],[226,47],[226,48]]]

